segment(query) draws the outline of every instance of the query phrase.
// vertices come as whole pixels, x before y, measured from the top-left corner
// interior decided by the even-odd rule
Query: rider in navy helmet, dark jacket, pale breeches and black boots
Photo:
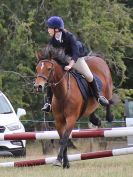
[[[64,70],[69,71],[74,68],[79,73],[83,74],[88,81],[93,95],[96,100],[102,105],[106,106],[109,104],[108,100],[101,96],[95,78],[93,77],[90,68],[85,62],[85,56],[88,55],[88,51],[84,45],[76,39],[75,35],[64,29],[64,21],[59,16],[52,16],[47,20],[48,33],[51,37],[49,44],[56,48],[63,48],[65,54],[71,57],[69,64],[64,67]],[[47,100],[42,108],[42,111],[49,112],[51,110],[51,89],[47,90]]]

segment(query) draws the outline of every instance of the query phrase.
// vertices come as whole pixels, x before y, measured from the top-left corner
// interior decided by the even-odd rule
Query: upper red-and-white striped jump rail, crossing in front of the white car
[[[72,138],[90,138],[90,137],[123,137],[132,136],[133,127],[107,128],[107,129],[85,129],[73,130],[70,134]],[[13,134],[1,134],[0,140],[40,140],[40,139],[59,139],[57,131],[44,132],[24,132]]]

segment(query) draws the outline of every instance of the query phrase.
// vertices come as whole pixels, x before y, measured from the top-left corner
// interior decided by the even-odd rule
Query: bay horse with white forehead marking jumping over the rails
[[[60,150],[54,165],[62,166],[63,163],[63,168],[69,168],[67,158],[69,135],[81,115],[93,114],[99,103],[92,96],[85,107],[85,101],[75,78],[61,66],[62,61],[67,61],[68,58],[63,50],[47,46],[37,54],[37,57],[39,62],[36,66],[34,87],[36,91],[43,91],[45,87],[51,86],[52,113],[60,136]],[[111,100],[113,84],[108,65],[102,58],[96,56],[86,56],[86,62],[92,73],[102,82],[102,95]],[[110,114],[109,106],[108,114]]]

